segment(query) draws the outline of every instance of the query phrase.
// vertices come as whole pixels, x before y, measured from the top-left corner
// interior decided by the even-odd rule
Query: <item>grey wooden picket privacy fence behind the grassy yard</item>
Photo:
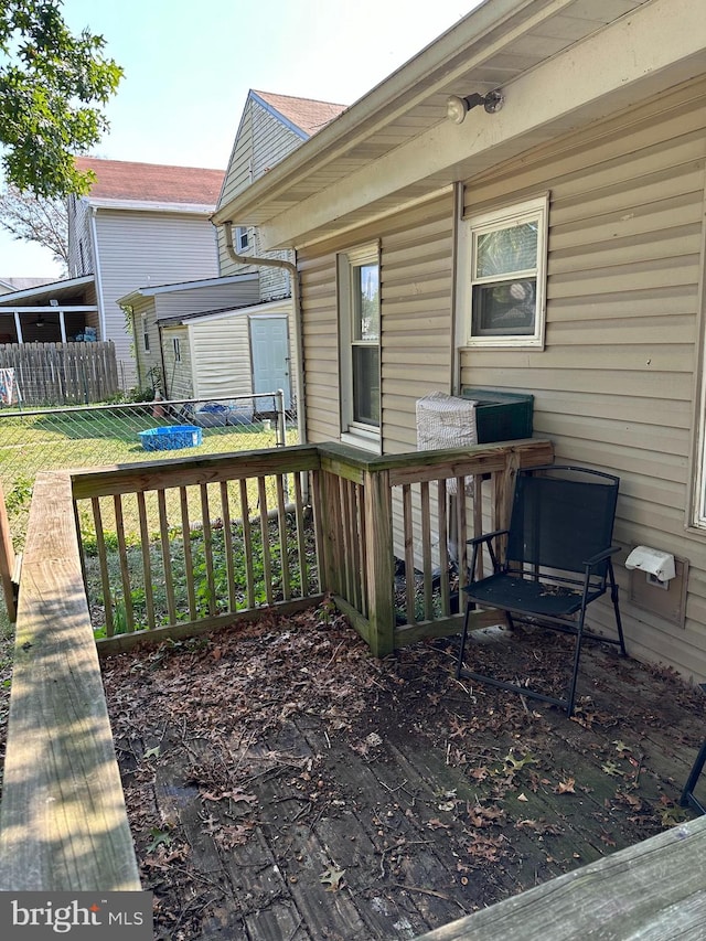
[[[0,368],[14,370],[21,405],[87,405],[119,392],[111,342],[3,343]]]

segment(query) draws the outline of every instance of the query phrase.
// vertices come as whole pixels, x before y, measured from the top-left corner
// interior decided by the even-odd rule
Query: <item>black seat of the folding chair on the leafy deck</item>
[[[580,610],[582,586],[573,588],[501,573],[467,585],[463,591],[469,601],[484,607],[560,618]],[[602,589],[589,591],[587,603],[602,594]]]

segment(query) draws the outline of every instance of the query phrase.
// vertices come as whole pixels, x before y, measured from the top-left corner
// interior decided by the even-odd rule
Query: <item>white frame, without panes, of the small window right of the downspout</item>
[[[463,317],[459,319],[462,334],[460,345],[472,347],[531,347],[544,349],[546,328],[546,272],[547,244],[549,220],[549,194],[545,193],[526,202],[493,210],[492,212],[470,215],[459,228],[459,259],[461,277],[459,278],[459,310]],[[475,285],[494,282],[498,278],[475,278],[475,245],[478,237],[489,232],[511,228],[527,222],[537,223],[537,258],[536,266],[528,269],[512,271],[505,280],[535,279],[535,312],[534,331],[532,333],[484,333],[473,334],[473,287]]]

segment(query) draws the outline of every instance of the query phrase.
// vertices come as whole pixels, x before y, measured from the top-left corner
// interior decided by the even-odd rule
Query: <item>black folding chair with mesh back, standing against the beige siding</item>
[[[618,606],[618,586],[611,545],[619,478],[587,468],[545,466],[522,470],[515,493],[509,530],[469,539],[472,546],[471,581],[467,595],[463,635],[457,676],[478,680],[523,696],[541,699],[574,713],[581,644],[586,638],[614,643],[625,655],[625,643]],[[499,544],[504,553],[499,552]],[[488,548],[493,574],[475,580],[479,552]],[[587,631],[586,609],[610,589],[618,637],[607,638]],[[505,612],[542,627],[564,631],[576,638],[570,680],[564,698],[541,691],[475,673],[464,664],[470,614],[477,607]]]

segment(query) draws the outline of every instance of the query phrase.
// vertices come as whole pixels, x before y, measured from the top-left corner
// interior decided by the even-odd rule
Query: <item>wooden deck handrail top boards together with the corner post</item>
[[[282,474],[310,471],[319,547],[325,542],[327,510],[333,512],[329,528],[333,520],[347,524],[347,532],[336,535],[338,556],[330,554],[331,546],[322,548],[321,590],[340,585],[334,584],[331,562],[352,548],[353,516],[364,516],[357,523],[365,539],[362,586],[368,595],[363,598],[361,585],[352,585],[352,597],[365,616],[352,603],[346,610],[357,614],[360,623],[354,625],[365,622],[362,632],[367,632],[373,652],[382,655],[396,639],[385,584],[393,557],[392,488],[414,483],[424,490],[428,481],[458,478],[462,483],[467,474],[479,479],[491,474],[494,496],[504,503],[513,469],[544,463],[550,453],[549,442],[532,440],[383,458],[320,445],[39,474],[19,592],[0,806],[0,890],[140,888],[86,599],[77,499],[119,499],[154,488],[223,486],[233,480],[245,485],[253,474],[277,474],[281,480]],[[328,475],[329,485],[317,475]],[[357,505],[350,500],[352,492],[330,486],[333,479],[360,488]],[[300,505],[300,492],[297,498]],[[281,485],[276,509],[281,515]],[[307,600],[315,601],[302,599]]]

